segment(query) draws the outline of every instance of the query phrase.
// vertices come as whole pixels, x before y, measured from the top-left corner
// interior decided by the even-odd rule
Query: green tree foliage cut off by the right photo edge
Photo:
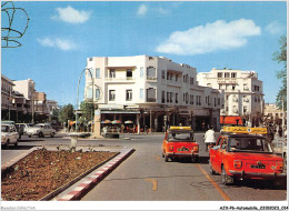
[[[277,72],[277,79],[281,80],[282,87],[280,88],[276,102],[281,108],[281,99],[285,99],[285,110],[287,110],[287,37],[279,39],[280,50],[273,53],[273,60],[278,63],[283,63],[285,69]]]

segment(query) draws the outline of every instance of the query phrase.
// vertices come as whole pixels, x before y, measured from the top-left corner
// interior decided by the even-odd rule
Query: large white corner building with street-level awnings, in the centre
[[[94,102],[101,120],[133,121],[138,128],[192,125],[206,130],[219,125],[223,94],[200,87],[197,71],[163,57],[93,57],[87,59],[93,78]],[[86,72],[84,99],[91,100],[92,81]]]

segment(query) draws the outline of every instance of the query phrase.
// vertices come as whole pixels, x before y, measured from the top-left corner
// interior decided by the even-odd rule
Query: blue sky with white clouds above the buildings
[[[29,16],[22,46],[1,49],[1,72],[32,79],[60,105],[77,102],[78,80],[90,57],[163,56],[209,72],[250,70],[275,102],[282,63],[272,60],[287,33],[286,1],[16,1]],[[12,29],[26,16],[17,10]],[[2,28],[8,24],[1,12]],[[3,33],[2,33],[3,36]],[[12,34],[11,34],[12,36]],[[12,42],[10,42],[12,44]],[[80,83],[83,99],[84,77]]]

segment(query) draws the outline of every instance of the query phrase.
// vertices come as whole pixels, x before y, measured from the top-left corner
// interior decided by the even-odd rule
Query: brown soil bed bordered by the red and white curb
[[[2,174],[1,197],[7,201],[40,200],[117,153],[36,150]]]

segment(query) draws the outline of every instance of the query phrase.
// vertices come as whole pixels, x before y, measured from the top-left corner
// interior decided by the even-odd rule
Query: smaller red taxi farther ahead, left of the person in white
[[[168,162],[175,158],[199,160],[199,144],[196,142],[191,127],[170,127],[162,141],[162,158]]]

